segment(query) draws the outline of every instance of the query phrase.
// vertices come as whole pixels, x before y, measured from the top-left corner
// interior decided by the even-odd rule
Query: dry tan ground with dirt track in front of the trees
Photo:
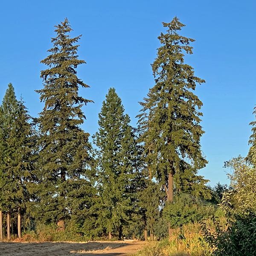
[[[145,241],[0,242],[1,256],[128,256]]]

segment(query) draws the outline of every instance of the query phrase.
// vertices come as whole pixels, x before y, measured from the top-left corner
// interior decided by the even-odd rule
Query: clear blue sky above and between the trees
[[[0,99],[12,82],[32,116],[43,108],[40,71],[55,37],[54,25],[67,17],[71,36],[82,34],[79,58],[87,62],[78,76],[90,85],[80,95],[93,100],[83,108],[83,129],[94,134],[98,113],[109,87],[121,97],[131,124],[139,101],[154,85],[150,64],[160,46],[163,22],[175,15],[186,24],[181,34],[196,40],[194,54],[185,58],[195,75],[206,80],[195,94],[204,103],[201,140],[209,164],[199,173],[228,183],[224,161],[247,155],[249,122],[256,104],[256,2],[223,0],[11,0],[1,1]]]

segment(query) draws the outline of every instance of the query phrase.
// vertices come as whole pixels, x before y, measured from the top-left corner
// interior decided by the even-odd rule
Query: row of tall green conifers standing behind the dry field
[[[70,38],[67,19],[55,26],[53,48],[41,61],[48,68],[41,71],[44,88],[36,91],[44,102],[38,118],[31,119],[9,84],[0,108],[1,239],[2,212],[8,239],[15,212],[19,237],[20,216],[26,214],[58,230],[69,221],[77,233],[108,233],[109,239],[121,239],[134,232],[132,223],[142,223],[145,239],[147,227],[153,238],[154,223],[174,192],[211,198],[208,180],[198,175],[207,160],[200,145],[202,102],[193,93],[205,81],[183,59],[192,54],[194,40],[178,34],[185,25],[177,17],[163,26],[167,32],[159,36],[162,45],[152,64],[155,85],[140,102],[138,127],[131,127],[110,88],[93,136],[95,149],[81,129],[81,107],[92,102],[78,94],[80,86],[89,87],[76,76],[76,67],[85,63],[77,55],[81,35]]]

